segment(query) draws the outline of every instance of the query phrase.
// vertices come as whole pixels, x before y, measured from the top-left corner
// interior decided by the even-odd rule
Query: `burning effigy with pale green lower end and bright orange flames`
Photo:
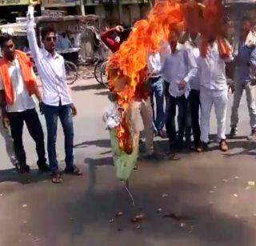
[[[114,114],[119,119],[118,124],[110,128],[110,139],[120,180],[126,181],[130,177],[138,157],[139,136],[130,122],[130,104],[138,83],[146,83],[149,75],[147,55],[159,51],[161,42],[167,40],[171,30],[182,26],[182,4],[178,1],[159,2],[147,19],[134,24],[129,38],[108,61],[108,86],[116,96]]]

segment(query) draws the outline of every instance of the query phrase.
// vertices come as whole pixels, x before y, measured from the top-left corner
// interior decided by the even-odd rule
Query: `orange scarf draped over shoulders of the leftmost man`
[[[32,75],[32,64],[30,62],[30,58],[20,50],[15,50],[15,57],[18,58],[24,84],[31,96],[36,92],[36,81]],[[5,91],[6,103],[7,105],[13,105],[14,89],[8,71],[8,60],[6,58],[2,58],[0,60],[0,73],[3,89]]]

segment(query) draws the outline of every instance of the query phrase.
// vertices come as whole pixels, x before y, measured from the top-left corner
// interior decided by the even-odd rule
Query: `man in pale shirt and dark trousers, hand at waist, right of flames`
[[[190,112],[188,96],[190,93],[190,80],[195,77],[198,65],[189,50],[178,43],[180,33],[178,30],[170,32],[169,46],[162,54],[162,77],[169,83],[170,101],[166,119],[166,130],[172,150],[177,143],[178,149],[183,146],[184,133],[186,144],[190,145]],[[170,50],[168,53],[167,50]],[[176,106],[178,105],[178,139],[176,139]],[[187,146],[190,147],[190,146]]]

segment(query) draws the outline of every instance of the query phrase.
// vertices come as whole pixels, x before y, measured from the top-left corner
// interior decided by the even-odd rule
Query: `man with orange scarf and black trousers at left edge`
[[[22,141],[22,130],[25,122],[30,136],[36,143],[38,169],[47,172],[49,167],[46,165],[42,125],[31,96],[34,93],[39,101],[41,97],[33,77],[34,73],[30,59],[22,51],[14,50],[14,42],[9,34],[3,34],[0,41],[3,54],[0,61],[2,124],[6,129],[10,126],[19,171],[21,173],[30,172],[30,166],[26,164],[26,153]],[[25,64],[22,64],[22,62]],[[26,81],[24,73],[30,73],[30,81]]]

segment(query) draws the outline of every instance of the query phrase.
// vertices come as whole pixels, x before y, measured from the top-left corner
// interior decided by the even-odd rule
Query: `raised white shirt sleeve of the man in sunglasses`
[[[41,57],[41,52],[38,47],[38,42],[37,42],[36,34],[34,31],[34,6],[30,5],[28,7],[26,20],[27,20],[26,33],[27,33],[27,40],[30,45],[30,51],[34,60],[38,61]]]

